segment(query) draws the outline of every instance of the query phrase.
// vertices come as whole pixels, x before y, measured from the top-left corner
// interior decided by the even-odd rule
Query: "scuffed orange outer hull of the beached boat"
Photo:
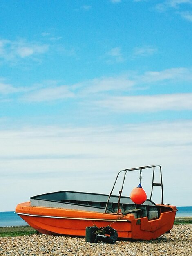
[[[161,205],[159,205],[161,206]],[[163,207],[163,205],[162,205]],[[36,207],[30,202],[18,204],[16,213],[31,227],[42,234],[85,236],[86,227],[110,227],[119,238],[154,240],[173,227],[176,207],[162,212],[159,218],[135,218],[133,214],[121,215],[74,209]]]

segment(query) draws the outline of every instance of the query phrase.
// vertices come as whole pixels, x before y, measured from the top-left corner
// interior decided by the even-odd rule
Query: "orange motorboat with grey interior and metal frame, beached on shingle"
[[[122,196],[125,176],[129,171],[153,169],[150,199],[135,204],[130,197]],[[161,182],[154,183],[155,170],[159,169]],[[120,173],[124,173],[119,195],[112,195]],[[161,204],[152,202],[153,186],[161,186]],[[119,238],[141,240],[156,239],[172,229],[176,207],[163,204],[161,166],[144,166],[125,169],[118,173],[109,195],[59,191],[37,195],[30,202],[18,204],[15,213],[42,234],[85,236],[86,227],[110,226]]]

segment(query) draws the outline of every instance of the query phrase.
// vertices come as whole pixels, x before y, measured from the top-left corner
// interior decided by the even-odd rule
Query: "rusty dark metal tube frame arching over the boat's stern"
[[[161,183],[154,183],[154,173],[155,173],[155,167],[159,167],[159,171],[160,171],[160,177],[161,177]],[[121,186],[121,190],[119,191],[119,198],[118,198],[118,207],[117,207],[117,214],[119,214],[119,205],[120,205],[120,200],[121,200],[121,194],[122,194],[122,191],[123,191],[123,185],[124,185],[124,182],[125,182],[125,176],[127,174],[128,171],[138,171],[138,170],[143,170],[143,169],[148,169],[148,168],[153,168],[153,177],[152,177],[152,188],[151,188],[151,195],[150,195],[150,200],[152,198],[152,193],[153,193],[153,186],[161,186],[161,204],[163,204],[163,180],[162,180],[162,171],[161,171],[161,166],[160,165],[149,165],[149,166],[143,166],[143,167],[138,167],[138,168],[130,168],[130,169],[125,169],[125,170],[121,170],[118,174],[117,174],[117,177],[116,177],[116,180],[114,182],[114,185],[112,187],[112,190],[109,194],[109,197],[107,199],[107,203],[106,203],[106,207],[105,207],[105,212],[107,212],[107,206],[108,206],[108,203],[109,203],[109,200],[111,198],[111,195],[112,195],[112,192],[113,192],[113,189],[114,189],[114,186],[116,184],[116,181],[118,179],[118,176],[121,172],[125,172],[124,176],[123,176],[123,183],[122,183],[122,186]]]

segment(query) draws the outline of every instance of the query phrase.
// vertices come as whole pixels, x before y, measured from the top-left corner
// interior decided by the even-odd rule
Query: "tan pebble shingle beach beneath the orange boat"
[[[85,238],[33,234],[0,237],[1,256],[192,256],[192,225],[174,225],[153,241],[87,243]]]

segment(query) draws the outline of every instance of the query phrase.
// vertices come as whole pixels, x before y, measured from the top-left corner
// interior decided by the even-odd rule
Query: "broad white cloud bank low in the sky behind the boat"
[[[4,206],[11,200],[9,208],[5,206],[2,211],[12,210],[22,200],[39,193],[109,193],[117,171],[150,164],[163,166],[165,202],[188,205],[190,199],[185,188],[190,195],[192,121],[6,129],[0,132],[0,144],[0,193],[8,184],[10,188],[1,203]],[[148,184],[144,188],[150,191],[151,177],[148,179],[146,172],[142,174],[143,185]],[[137,185],[139,174],[134,177],[129,176],[127,181],[128,194]],[[26,186],[31,182],[36,186]],[[160,196],[155,202],[158,200]]]

